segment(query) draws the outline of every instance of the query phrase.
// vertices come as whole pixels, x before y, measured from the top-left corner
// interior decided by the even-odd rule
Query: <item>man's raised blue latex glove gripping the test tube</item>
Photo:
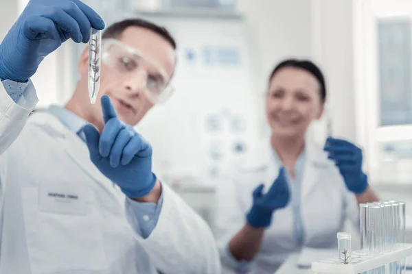
[[[71,38],[88,42],[102,18],[79,0],[30,0],[0,44],[0,79],[25,82],[49,53]]]

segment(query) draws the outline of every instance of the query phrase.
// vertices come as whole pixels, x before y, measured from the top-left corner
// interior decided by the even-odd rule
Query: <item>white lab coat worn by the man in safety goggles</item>
[[[155,229],[141,238],[84,142],[47,112],[25,123],[29,113],[0,84],[0,273],[220,273],[211,230],[168,186]]]

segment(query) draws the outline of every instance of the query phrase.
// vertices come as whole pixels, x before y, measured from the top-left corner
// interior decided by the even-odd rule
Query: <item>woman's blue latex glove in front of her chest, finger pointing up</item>
[[[282,167],[279,170],[279,175],[266,194],[262,193],[263,187],[260,184],[253,191],[253,205],[247,214],[247,222],[255,228],[271,225],[273,212],[288,204],[290,192],[285,169]]]

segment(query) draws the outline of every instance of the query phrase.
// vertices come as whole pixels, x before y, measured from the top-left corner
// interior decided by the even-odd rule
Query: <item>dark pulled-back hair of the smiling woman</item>
[[[296,69],[303,69],[304,71],[308,71],[308,73],[312,74],[319,82],[321,86],[321,100],[325,103],[326,100],[326,84],[325,84],[325,77],[323,77],[323,73],[319,67],[314,64],[312,61],[309,60],[297,60],[297,59],[287,59],[275,66],[271,73],[271,77],[269,77],[269,82],[271,82],[273,76],[277,71],[280,69],[284,69],[286,67],[292,67]]]

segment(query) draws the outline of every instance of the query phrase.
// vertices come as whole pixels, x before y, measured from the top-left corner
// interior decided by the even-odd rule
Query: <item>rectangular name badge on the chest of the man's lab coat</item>
[[[87,214],[87,188],[82,184],[44,182],[40,186],[39,195],[41,212]]]

